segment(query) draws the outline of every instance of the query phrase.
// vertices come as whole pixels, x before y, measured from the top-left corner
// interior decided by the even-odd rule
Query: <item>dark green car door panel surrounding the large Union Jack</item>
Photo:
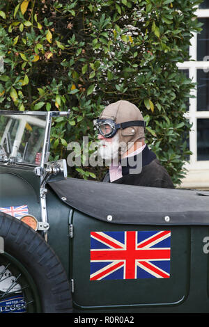
[[[189,291],[189,228],[176,226],[121,225],[95,221],[74,212],[73,225],[77,237],[73,241],[72,278],[75,280],[73,299],[80,308],[118,309],[124,306],[175,305],[185,301]],[[91,232],[171,230],[170,278],[137,278],[90,280]],[[79,260],[77,260],[79,258]],[[82,273],[77,273],[82,271]],[[114,277],[112,277],[114,278]],[[178,287],[176,287],[178,285]],[[84,291],[85,289],[85,291]],[[159,292],[160,291],[160,292]]]

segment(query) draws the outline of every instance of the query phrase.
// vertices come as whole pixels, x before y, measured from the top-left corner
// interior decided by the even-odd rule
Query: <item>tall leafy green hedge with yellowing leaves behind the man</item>
[[[110,102],[136,104],[146,139],[179,184],[187,159],[184,117],[194,87],[176,63],[201,31],[195,0],[13,0],[0,3],[1,109],[67,111],[52,128],[50,159],[70,141],[94,140],[93,118]],[[184,140],[184,141],[183,141]],[[69,169],[102,177],[104,169]]]

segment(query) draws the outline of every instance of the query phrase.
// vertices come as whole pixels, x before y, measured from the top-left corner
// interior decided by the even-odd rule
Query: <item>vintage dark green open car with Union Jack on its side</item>
[[[67,177],[62,115],[0,111],[0,312],[209,312],[209,192]]]

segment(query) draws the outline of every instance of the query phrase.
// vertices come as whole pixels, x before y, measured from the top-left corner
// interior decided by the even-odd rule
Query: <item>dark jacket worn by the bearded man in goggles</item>
[[[167,173],[167,170],[157,160],[156,155],[148,149],[148,146],[144,150],[134,156],[134,161],[137,162],[138,156],[142,156],[141,173],[130,173],[130,167],[127,162],[127,166],[122,164],[122,175],[123,177],[118,180],[114,180],[112,183],[116,184],[127,184],[127,185],[138,185],[138,186],[149,186],[149,187],[164,187],[167,189],[173,189],[173,182],[171,177]],[[102,182],[110,182],[109,172],[104,176]]]

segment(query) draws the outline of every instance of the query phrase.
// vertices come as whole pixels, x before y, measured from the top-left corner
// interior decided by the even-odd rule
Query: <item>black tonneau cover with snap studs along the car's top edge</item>
[[[50,182],[49,186],[70,207],[109,223],[209,225],[209,191],[129,186],[75,178]]]

